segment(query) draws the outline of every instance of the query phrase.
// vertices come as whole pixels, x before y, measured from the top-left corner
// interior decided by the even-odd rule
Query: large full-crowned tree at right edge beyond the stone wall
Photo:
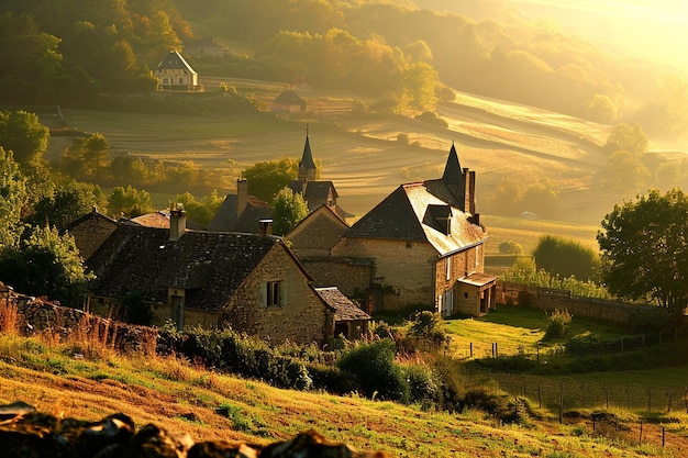
[[[688,304],[688,198],[679,189],[651,190],[614,205],[597,241],[602,278],[620,298],[675,311]]]

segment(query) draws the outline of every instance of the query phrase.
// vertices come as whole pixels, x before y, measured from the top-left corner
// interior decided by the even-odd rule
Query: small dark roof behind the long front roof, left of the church
[[[218,213],[208,224],[208,231],[257,233],[259,220],[273,219],[275,209],[255,196],[248,196],[246,209],[244,209],[241,216],[237,215],[237,199],[236,194],[228,194],[224,198],[224,202],[218,209]]]

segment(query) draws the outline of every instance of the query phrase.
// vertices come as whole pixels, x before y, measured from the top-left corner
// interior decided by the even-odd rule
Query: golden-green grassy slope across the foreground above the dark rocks
[[[314,428],[332,442],[401,457],[678,457],[687,446],[686,415],[674,416],[679,423],[662,447],[650,427],[639,442],[624,432],[593,432],[581,418],[559,424],[546,410],[528,425],[506,425],[474,410],[450,414],[356,393],[279,390],[102,346],[84,356],[85,345],[0,335],[0,403],[23,400],[60,417],[92,421],[122,412],[137,427],[153,423],[197,442],[265,444]]]

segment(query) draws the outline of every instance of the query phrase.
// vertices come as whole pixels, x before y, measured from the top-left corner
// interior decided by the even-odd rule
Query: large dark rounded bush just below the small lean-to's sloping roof
[[[408,402],[409,383],[395,362],[396,350],[395,343],[388,338],[362,342],[348,349],[337,366],[354,377],[365,396]]]

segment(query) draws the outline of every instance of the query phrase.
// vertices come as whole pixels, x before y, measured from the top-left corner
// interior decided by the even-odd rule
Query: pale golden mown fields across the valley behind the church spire
[[[213,78],[213,85],[221,81]],[[279,90],[259,81],[226,83],[252,94],[266,110]],[[556,182],[567,190],[561,199],[567,221],[597,224],[603,215],[585,189],[600,164],[599,145],[609,126],[465,93],[437,109],[448,127],[357,113],[351,111],[354,101],[347,94],[307,89],[304,97],[310,111],[299,120],[75,109],[63,109],[63,114],[70,127],[102,133],[113,155],[192,160],[224,170],[226,179],[217,183],[221,193],[231,192],[240,171],[256,161],[300,157],[308,125],[321,178],[334,181],[340,203],[357,216],[402,182],[440,177],[452,143],[462,166],[477,171],[478,211],[481,197],[485,201],[502,180],[517,179]],[[330,110],[334,108],[336,114]],[[399,134],[408,141],[399,142]],[[69,143],[68,137],[54,137],[47,157],[57,160]],[[497,227],[489,220],[486,224]]]

